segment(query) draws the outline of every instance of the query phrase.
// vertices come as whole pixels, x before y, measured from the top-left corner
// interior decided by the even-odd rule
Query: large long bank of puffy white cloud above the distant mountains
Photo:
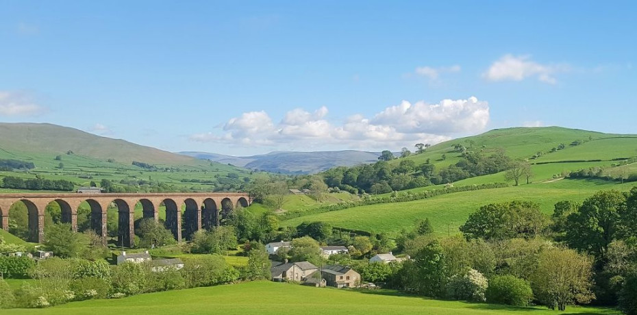
[[[455,134],[482,131],[489,121],[486,101],[445,99],[436,104],[402,101],[373,116],[328,121],[325,107],[290,110],[275,124],[264,111],[246,112],[223,125],[221,134],[193,134],[197,142],[240,143],[288,149],[398,149],[416,142],[437,143]],[[413,142],[413,143],[412,143]]]

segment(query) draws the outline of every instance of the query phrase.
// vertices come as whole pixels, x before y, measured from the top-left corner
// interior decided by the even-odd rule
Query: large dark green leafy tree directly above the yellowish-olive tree
[[[624,195],[617,190],[601,190],[584,200],[566,220],[566,243],[573,249],[603,258],[620,224]]]

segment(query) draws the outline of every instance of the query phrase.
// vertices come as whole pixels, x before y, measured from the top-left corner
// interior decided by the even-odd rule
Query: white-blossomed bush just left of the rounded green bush
[[[475,269],[466,268],[462,273],[453,275],[447,283],[447,296],[463,301],[485,301],[484,292],[488,281]]]

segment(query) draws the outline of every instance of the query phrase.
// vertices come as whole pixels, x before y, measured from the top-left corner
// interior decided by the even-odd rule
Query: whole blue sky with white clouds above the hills
[[[237,3],[0,0],[0,121],[234,155],[637,133],[634,1]]]

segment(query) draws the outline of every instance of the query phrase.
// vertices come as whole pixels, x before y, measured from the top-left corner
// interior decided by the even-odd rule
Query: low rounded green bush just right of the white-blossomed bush
[[[486,289],[486,301],[516,306],[529,305],[533,299],[533,290],[528,281],[513,275],[495,276]]]

